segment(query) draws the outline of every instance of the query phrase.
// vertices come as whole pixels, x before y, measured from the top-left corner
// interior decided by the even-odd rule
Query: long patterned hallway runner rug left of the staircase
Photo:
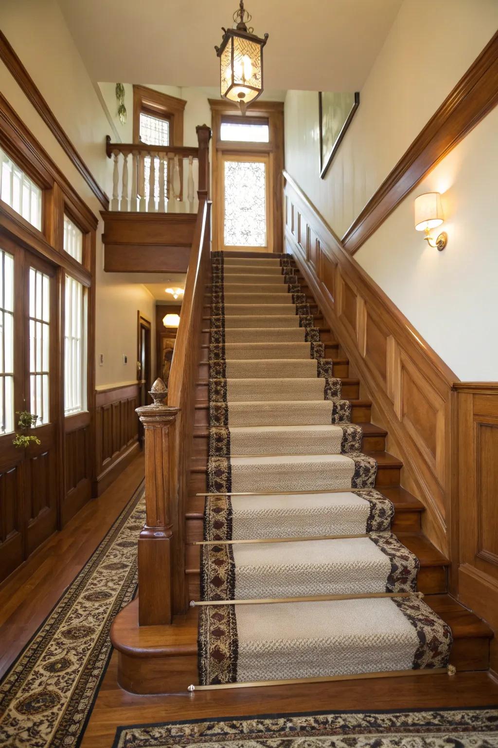
[[[0,746],[76,748],[137,589],[143,485],[0,682]]]

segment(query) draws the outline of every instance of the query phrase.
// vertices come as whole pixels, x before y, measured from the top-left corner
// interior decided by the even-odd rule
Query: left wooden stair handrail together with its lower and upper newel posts
[[[208,178],[211,129],[201,126],[199,183]],[[188,608],[184,536],[190,452],[193,440],[196,379],[201,354],[202,307],[211,251],[211,202],[207,188],[198,191],[199,210],[175,340],[167,405],[138,408],[145,426],[146,525],[140,533],[139,623],[168,624]],[[155,382],[152,396],[161,394]],[[163,392],[163,397],[165,392]]]

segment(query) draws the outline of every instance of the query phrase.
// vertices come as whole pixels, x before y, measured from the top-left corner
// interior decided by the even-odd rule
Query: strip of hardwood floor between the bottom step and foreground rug
[[[134,696],[121,690],[116,678],[117,653],[113,652],[81,748],[111,748],[119,725],[281,712],[498,705],[498,684],[486,672],[174,696]]]

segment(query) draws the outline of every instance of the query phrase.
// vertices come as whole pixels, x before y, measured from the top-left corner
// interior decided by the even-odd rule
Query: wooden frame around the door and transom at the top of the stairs
[[[270,236],[273,228],[273,251],[284,251],[283,236],[283,179],[284,168],[284,102],[281,101],[256,101],[249,109],[248,115],[241,120],[243,115],[237,104],[222,99],[208,99],[211,106],[211,129],[213,131],[213,148],[211,153],[211,182],[213,200],[213,237],[216,242],[222,239],[223,206],[221,200],[222,190],[222,156],[231,153],[234,156],[268,156],[268,180],[271,186],[269,215],[273,215],[273,227],[268,231],[268,242],[270,247]],[[250,123],[261,122],[269,126],[268,143],[247,143],[246,141],[222,141],[222,121],[247,121]],[[221,248],[222,244],[214,247]]]

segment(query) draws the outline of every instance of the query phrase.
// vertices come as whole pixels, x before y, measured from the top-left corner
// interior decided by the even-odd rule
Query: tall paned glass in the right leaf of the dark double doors
[[[29,384],[37,426],[49,423],[50,278],[29,269]]]

